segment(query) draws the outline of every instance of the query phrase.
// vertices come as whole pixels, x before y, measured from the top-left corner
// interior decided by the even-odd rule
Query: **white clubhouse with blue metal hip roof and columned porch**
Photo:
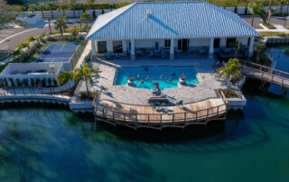
[[[99,15],[87,39],[93,57],[213,58],[253,55],[255,29],[237,14],[206,2],[135,3]]]

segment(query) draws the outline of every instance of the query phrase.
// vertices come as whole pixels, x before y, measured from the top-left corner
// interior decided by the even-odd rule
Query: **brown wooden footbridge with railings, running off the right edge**
[[[289,87],[289,73],[246,60],[239,61],[242,64],[243,72],[245,74],[275,83],[279,86]],[[246,69],[251,70],[252,72],[246,71]]]

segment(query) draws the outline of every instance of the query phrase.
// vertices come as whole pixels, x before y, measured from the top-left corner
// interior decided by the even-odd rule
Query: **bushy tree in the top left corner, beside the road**
[[[23,22],[16,18],[23,13],[17,12],[16,7],[7,5],[5,0],[0,0],[0,28],[7,28],[11,24],[18,24],[23,26]]]

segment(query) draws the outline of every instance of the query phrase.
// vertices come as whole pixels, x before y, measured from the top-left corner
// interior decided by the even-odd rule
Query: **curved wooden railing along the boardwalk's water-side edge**
[[[213,106],[198,111],[188,111],[172,114],[140,114],[124,112],[116,109],[106,108],[97,105],[97,98],[93,101],[93,113],[97,118],[102,118],[104,122],[114,125],[124,124],[134,129],[140,127],[158,128],[182,127],[190,124],[207,124],[210,120],[218,120],[220,116],[228,112],[228,100],[221,92],[222,105]],[[219,118],[224,120],[224,118]],[[181,126],[180,126],[181,125]]]

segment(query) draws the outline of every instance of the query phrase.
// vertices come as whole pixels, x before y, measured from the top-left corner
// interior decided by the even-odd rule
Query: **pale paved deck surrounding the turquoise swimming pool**
[[[179,86],[162,90],[163,95],[169,98],[171,104],[183,100],[184,104],[199,102],[218,97],[215,90],[221,87],[211,71],[215,59],[142,59],[142,60],[94,60],[91,64],[98,67],[99,77],[94,79],[92,90],[100,90],[100,86],[107,87],[107,94],[102,93],[100,100],[110,100],[127,105],[148,105],[147,99],[152,96],[153,90],[133,86],[115,86],[114,79],[117,68],[140,66],[194,66],[199,84]],[[160,73],[162,74],[162,73]],[[85,90],[84,87],[81,90]]]

